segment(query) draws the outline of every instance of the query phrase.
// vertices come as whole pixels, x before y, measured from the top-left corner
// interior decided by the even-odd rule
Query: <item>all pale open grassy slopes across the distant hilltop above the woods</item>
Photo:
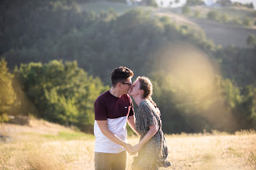
[[[248,8],[209,8],[203,6],[191,7],[192,12],[198,10],[200,12],[201,19],[195,19],[189,16],[182,15],[182,8],[148,8],[148,7],[137,7],[128,6],[122,3],[114,2],[91,2],[81,5],[81,9],[85,11],[99,13],[102,11],[108,11],[110,8],[114,9],[119,14],[123,14],[133,8],[150,9],[157,13],[157,15],[168,15],[174,22],[181,25],[189,25],[196,28],[201,28],[206,32],[206,37],[212,39],[216,45],[221,46],[239,46],[247,47],[246,39],[250,34],[256,36],[256,27],[251,26],[246,28],[243,26],[231,26],[227,24],[220,24],[216,22],[210,22],[206,19],[206,14],[210,10],[216,10],[220,14],[227,14],[229,19],[244,19],[244,17],[252,17],[252,9]]]

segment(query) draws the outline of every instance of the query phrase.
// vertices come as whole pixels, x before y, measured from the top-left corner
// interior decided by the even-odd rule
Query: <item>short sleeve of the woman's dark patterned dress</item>
[[[143,105],[141,112],[143,114],[144,125],[147,128],[157,124],[157,118],[154,116],[153,110],[148,104]]]

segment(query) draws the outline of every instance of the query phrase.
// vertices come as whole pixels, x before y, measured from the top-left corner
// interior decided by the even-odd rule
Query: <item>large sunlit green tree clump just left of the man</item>
[[[106,90],[76,62],[22,64],[16,72],[39,117],[92,132],[94,100]]]

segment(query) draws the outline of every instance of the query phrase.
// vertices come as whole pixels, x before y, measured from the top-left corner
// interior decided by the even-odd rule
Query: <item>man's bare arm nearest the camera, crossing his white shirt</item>
[[[107,138],[109,138],[111,141],[116,142],[116,144],[119,144],[126,148],[126,150],[130,153],[132,151],[133,146],[130,144],[126,144],[122,139],[118,138],[116,134],[113,134],[112,131],[109,131],[108,128],[108,121],[97,121],[97,124],[99,125],[100,130],[102,131],[102,134],[104,134]]]

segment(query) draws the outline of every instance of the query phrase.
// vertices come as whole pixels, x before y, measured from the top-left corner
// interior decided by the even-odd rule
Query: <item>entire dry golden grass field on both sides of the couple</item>
[[[94,169],[92,135],[34,120],[29,126],[0,124],[0,136],[0,169]],[[172,134],[166,140],[169,169],[256,168],[255,131]],[[130,169],[133,156],[128,160]]]

